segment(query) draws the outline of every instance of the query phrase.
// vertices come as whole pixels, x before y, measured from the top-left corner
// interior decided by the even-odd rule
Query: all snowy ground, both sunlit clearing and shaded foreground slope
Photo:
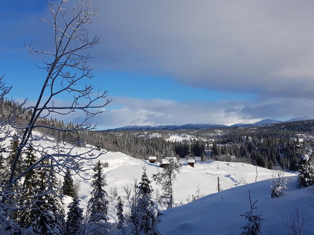
[[[40,141],[42,146],[46,147],[52,145],[50,141]],[[9,140],[8,143],[9,144]],[[75,148],[73,151],[79,153],[90,149]],[[95,151],[97,153],[98,151]],[[120,152],[108,152],[103,154],[100,161],[107,161],[108,168],[104,168],[104,177],[107,181],[105,190],[109,193],[111,186],[116,186],[118,195],[124,195],[121,186],[126,183],[132,183],[134,177],[140,180],[142,175],[142,167],[147,167],[148,175],[156,173],[159,168],[158,164],[150,164],[146,160],[135,159],[131,156]],[[286,213],[293,209],[294,205],[306,213],[314,212],[314,209],[309,206],[310,201],[314,202],[314,195],[307,194],[305,189],[296,189],[296,175],[287,173],[286,176],[293,177],[289,183],[290,191],[286,195],[278,199],[270,198],[269,178],[271,178],[271,171],[264,168],[257,168],[257,182],[256,168],[253,165],[243,163],[228,163],[220,161],[196,161],[195,167],[187,165],[186,160],[181,160],[181,173],[177,175],[177,181],[174,186],[174,197],[176,204],[179,201],[186,203],[186,197],[195,194],[197,186],[205,196],[197,201],[188,203],[184,206],[179,206],[171,210],[165,211],[161,222],[161,231],[163,234],[238,234],[241,227],[245,224],[244,217],[240,217],[240,213],[244,213],[249,209],[248,189],[252,191],[253,200],[259,200],[257,206],[258,213],[263,215],[265,219],[262,226],[262,234],[268,234],[268,230],[276,227],[281,233],[281,213]],[[92,161],[85,162],[86,167],[92,164]],[[218,165],[218,167],[217,167]],[[89,178],[94,172],[89,170],[82,176]],[[224,189],[230,189],[223,192],[216,193],[217,177],[222,181]],[[61,177],[61,176],[60,176]],[[81,182],[80,199],[81,206],[85,207],[90,199],[91,179],[83,180],[77,178]],[[246,180],[247,185],[242,185],[241,181]],[[62,179],[63,181],[63,179]],[[159,186],[152,183],[154,189]],[[239,187],[237,187],[239,186]],[[67,211],[68,204],[72,201],[70,197],[65,198],[65,209]],[[303,201],[305,201],[303,203]],[[109,199],[109,218],[111,222],[117,221],[116,218],[116,201]],[[313,219],[308,219],[308,223],[313,226]],[[264,228],[264,227],[267,227]],[[237,229],[236,233],[231,232],[230,229]],[[208,232],[210,231],[210,232]],[[314,232],[314,230],[313,230]],[[311,233],[314,234],[314,233]]]

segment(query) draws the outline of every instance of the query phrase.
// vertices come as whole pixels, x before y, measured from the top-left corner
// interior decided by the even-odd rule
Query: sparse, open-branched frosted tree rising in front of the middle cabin
[[[161,185],[162,195],[160,196],[160,205],[166,208],[172,208],[173,198],[173,185],[176,181],[176,174],[180,174],[180,165],[176,159],[168,159],[169,164],[160,172],[157,169],[157,173],[153,175],[153,180],[157,185]]]

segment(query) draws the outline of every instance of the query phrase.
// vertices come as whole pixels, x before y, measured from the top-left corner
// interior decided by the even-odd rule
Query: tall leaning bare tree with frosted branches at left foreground
[[[12,213],[35,205],[46,195],[53,196],[57,193],[54,190],[55,186],[51,183],[51,177],[46,177],[44,184],[47,185],[47,190],[35,195],[34,200],[29,204],[21,205],[19,195],[23,189],[16,188],[16,184],[28,172],[41,168],[47,172],[46,175],[49,175],[50,172],[53,175],[64,175],[66,170],[71,169],[72,175],[84,178],[81,173],[89,170],[88,167],[83,168],[84,162],[96,159],[105,153],[101,150],[95,154],[93,148],[80,153],[73,151],[75,147],[79,147],[84,142],[82,139],[77,139],[79,135],[75,133],[94,129],[95,125],[89,122],[89,118],[101,113],[100,109],[111,101],[106,96],[107,91],[94,91],[93,86],[86,82],[93,78],[92,68],[88,65],[88,60],[91,58],[88,50],[99,42],[98,36],[91,37],[89,35],[87,27],[98,15],[99,8],[93,4],[92,0],[59,1],[59,3],[49,0],[48,8],[51,17],[39,20],[48,24],[48,27],[53,30],[53,44],[47,47],[49,50],[35,49],[33,41],[25,44],[31,54],[42,55],[41,63],[43,64],[36,64],[36,66],[46,71],[45,77],[38,80],[38,82],[42,82],[42,88],[38,91],[37,102],[27,106],[26,98],[23,102],[18,103],[12,111],[0,118],[0,142],[13,138],[14,134],[16,135],[14,138],[19,140],[17,148],[9,149],[16,150],[16,154],[12,155],[12,162],[9,165],[10,174],[1,185],[1,231],[8,226],[12,227],[14,231],[20,231],[22,227],[10,219]],[[3,81],[2,76],[0,77],[0,100],[5,98],[11,89],[11,87],[5,86]],[[80,84],[84,84],[84,81],[85,85],[81,86]],[[34,92],[36,91],[32,91],[32,93]],[[55,101],[62,96],[73,97],[73,100],[57,105]],[[42,118],[71,115],[76,112],[83,119],[72,128],[59,128],[40,122]],[[24,113],[31,113],[27,122],[21,121],[24,120],[20,118]],[[35,134],[34,131],[40,133]],[[56,142],[51,137],[56,136],[54,133],[58,133],[57,136],[60,136]],[[72,133],[72,138],[65,140],[65,133]],[[50,141],[49,146],[44,145],[43,140]],[[35,151],[35,162],[20,171],[18,163],[22,158],[22,153],[31,146]],[[49,164],[44,164],[45,160],[48,160]],[[42,209],[42,213],[47,213],[44,208]]]

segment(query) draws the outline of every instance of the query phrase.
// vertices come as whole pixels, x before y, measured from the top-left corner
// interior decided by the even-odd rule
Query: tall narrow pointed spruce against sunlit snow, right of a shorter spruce
[[[103,189],[106,186],[105,179],[102,177],[103,166],[100,160],[95,164],[93,170],[95,174],[93,175],[91,198],[88,202],[89,210],[89,222],[91,223],[101,223],[101,221],[108,221],[108,196],[107,192]]]

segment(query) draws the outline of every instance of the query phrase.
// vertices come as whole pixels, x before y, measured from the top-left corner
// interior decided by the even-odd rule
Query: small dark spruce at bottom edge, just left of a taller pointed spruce
[[[84,234],[83,226],[83,209],[80,208],[80,200],[73,197],[73,201],[68,205],[67,222],[65,224],[65,235],[81,235]]]

